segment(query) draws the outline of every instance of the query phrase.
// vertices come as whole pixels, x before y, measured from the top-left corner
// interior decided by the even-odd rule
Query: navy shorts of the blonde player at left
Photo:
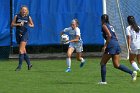
[[[16,41],[17,41],[17,44],[20,44],[20,42],[22,41],[27,42],[28,32],[25,32],[24,34],[16,33]]]

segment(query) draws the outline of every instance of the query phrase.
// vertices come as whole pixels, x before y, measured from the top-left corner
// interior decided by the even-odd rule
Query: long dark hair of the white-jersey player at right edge
[[[127,22],[129,25],[131,25],[131,28],[136,31],[136,33],[139,32],[140,28],[138,27],[135,18],[133,16],[128,16],[127,17]]]

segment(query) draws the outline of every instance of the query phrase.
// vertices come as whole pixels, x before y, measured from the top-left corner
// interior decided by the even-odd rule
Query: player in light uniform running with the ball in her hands
[[[68,68],[65,72],[71,71],[71,56],[74,50],[76,50],[76,58],[81,62],[80,67],[83,67],[85,60],[81,57],[83,51],[83,41],[81,39],[80,29],[78,28],[79,22],[77,19],[73,19],[71,22],[71,27],[65,28],[61,35],[67,33],[69,35],[69,48],[67,51],[66,63]]]

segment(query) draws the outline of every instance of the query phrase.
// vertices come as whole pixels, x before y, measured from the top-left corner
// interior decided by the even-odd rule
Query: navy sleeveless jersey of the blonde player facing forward
[[[16,30],[20,34],[24,34],[27,32],[28,22],[29,22],[29,16],[22,17],[20,14],[17,14],[16,23],[24,22],[23,26],[17,26]]]

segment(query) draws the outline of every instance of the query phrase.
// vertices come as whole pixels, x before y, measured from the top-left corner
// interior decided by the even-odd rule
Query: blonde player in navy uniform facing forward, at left
[[[11,26],[16,27],[16,41],[19,44],[19,64],[16,71],[21,69],[23,59],[25,59],[28,70],[30,70],[32,64],[26,52],[26,44],[28,40],[28,26],[34,27],[34,23],[29,16],[29,10],[26,6],[21,7],[20,13],[15,15]]]

